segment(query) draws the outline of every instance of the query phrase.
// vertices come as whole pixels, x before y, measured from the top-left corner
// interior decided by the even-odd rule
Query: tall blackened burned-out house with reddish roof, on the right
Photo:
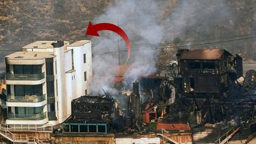
[[[223,97],[229,83],[242,76],[242,59],[221,49],[179,49],[178,78],[180,94],[187,97]]]

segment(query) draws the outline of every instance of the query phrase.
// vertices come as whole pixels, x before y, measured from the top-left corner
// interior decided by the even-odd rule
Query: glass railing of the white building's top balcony
[[[44,78],[44,72],[38,74],[10,74],[6,73],[6,80],[41,80]]]

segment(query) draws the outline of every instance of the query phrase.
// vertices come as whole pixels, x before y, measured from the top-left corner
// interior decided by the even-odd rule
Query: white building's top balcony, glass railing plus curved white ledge
[[[6,73],[6,84],[42,84],[45,82],[43,73],[38,74],[10,74]]]

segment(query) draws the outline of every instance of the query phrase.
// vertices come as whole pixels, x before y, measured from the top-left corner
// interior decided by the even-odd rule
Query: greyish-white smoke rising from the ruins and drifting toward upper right
[[[158,50],[155,48],[160,43],[169,43],[175,38],[194,40],[211,35],[215,32],[216,24],[229,23],[230,19],[230,10],[223,0],[119,0],[109,5],[105,13],[93,20],[92,24],[111,23],[122,28],[131,42],[128,64],[133,69],[128,73],[147,76],[156,72]],[[98,33],[100,37],[92,39],[93,93],[101,92],[102,88],[111,90],[113,78],[117,74],[113,67],[118,65],[119,45],[123,51],[121,65],[127,59],[126,44],[118,34],[106,30]],[[107,78],[99,81],[98,77],[101,76]]]

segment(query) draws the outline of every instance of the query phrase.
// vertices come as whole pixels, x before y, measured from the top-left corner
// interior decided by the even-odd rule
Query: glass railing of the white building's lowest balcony
[[[46,112],[42,114],[7,114],[8,120],[43,120],[46,119]]]

